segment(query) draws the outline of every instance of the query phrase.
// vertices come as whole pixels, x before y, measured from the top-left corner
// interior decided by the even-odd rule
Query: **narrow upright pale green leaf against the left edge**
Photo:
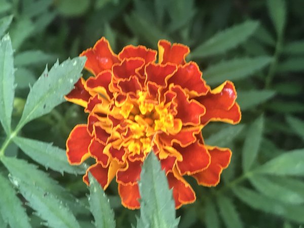
[[[7,134],[11,131],[14,103],[14,61],[10,36],[0,42],[0,122]]]

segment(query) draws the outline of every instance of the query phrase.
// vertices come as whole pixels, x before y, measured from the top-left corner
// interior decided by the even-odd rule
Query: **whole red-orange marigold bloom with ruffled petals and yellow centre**
[[[118,55],[104,37],[84,51],[85,68],[93,75],[80,79],[66,99],[82,105],[88,123],[74,127],[66,142],[70,164],[89,157],[88,172],[105,189],[118,182],[122,204],[139,208],[138,180],[150,151],[159,158],[176,208],[196,200],[183,176],[215,186],[231,159],[231,150],[206,145],[201,133],[210,121],[237,124],[241,119],[232,82],[211,90],[195,62],[186,62],[189,48],[161,40],[157,51],[127,46]]]

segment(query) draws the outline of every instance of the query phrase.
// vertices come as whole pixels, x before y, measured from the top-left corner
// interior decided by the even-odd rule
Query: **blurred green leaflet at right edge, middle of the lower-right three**
[[[257,191],[269,198],[286,204],[304,203],[304,182],[300,180],[280,177],[275,182],[271,177],[262,175],[252,175],[249,180]]]

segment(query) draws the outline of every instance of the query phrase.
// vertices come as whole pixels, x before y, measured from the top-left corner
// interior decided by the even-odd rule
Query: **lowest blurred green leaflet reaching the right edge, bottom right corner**
[[[233,191],[241,201],[254,209],[276,214],[295,222],[304,222],[304,207],[302,205],[284,204],[245,187],[234,187]]]

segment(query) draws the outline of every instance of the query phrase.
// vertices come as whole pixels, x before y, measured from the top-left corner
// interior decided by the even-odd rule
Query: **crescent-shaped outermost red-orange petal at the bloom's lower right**
[[[220,174],[223,169],[227,168],[231,159],[231,150],[227,148],[208,146],[211,156],[211,162],[208,168],[192,176],[199,184],[204,186],[216,186],[220,180]]]

